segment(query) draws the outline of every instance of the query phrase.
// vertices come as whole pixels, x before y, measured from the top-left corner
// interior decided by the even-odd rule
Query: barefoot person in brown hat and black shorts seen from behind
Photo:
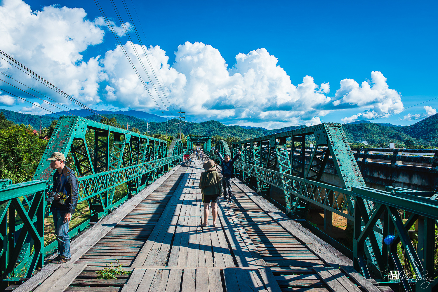
[[[199,188],[201,189],[202,202],[204,203],[204,223],[199,226],[207,227],[208,225],[208,208],[210,202],[212,202],[213,226],[216,226],[218,214],[217,204],[221,193],[219,173],[217,172],[217,165],[212,159],[207,160],[203,167],[205,172],[201,173]]]

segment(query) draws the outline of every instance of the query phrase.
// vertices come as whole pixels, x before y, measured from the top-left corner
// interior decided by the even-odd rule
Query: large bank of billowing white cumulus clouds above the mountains
[[[117,26],[110,21],[120,37],[126,34],[124,28],[132,30],[130,23]],[[350,108],[361,113],[343,121],[403,110],[401,95],[389,88],[381,72],[373,71],[372,81],[361,85],[353,79],[340,81],[332,98],[330,84],[317,84],[311,76],[292,84],[286,71],[277,65],[278,59],[264,48],[239,53],[233,64],[227,64],[218,49],[201,42],[181,44],[174,60],[159,46],[125,42],[123,49],[142,83],[122,47],[113,43],[104,56],[84,59],[83,52],[104,42],[106,31],[103,18],[89,20],[82,8],[55,5],[32,11],[21,0],[4,0],[0,6],[0,48],[94,109],[137,109],[163,116],[158,108],[166,115],[174,114],[173,108],[181,108],[193,121],[215,119],[268,128],[313,125],[333,111]],[[26,80],[27,85],[59,102],[67,102],[5,62],[0,62],[0,70]],[[35,104],[22,111],[41,112]]]

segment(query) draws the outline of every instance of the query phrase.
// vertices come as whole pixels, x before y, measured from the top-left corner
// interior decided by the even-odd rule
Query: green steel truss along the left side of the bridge
[[[95,131],[92,143],[87,130]],[[15,185],[10,185],[10,180],[0,181],[2,277],[27,278],[36,267],[42,267],[48,251],[44,246],[44,218],[48,215],[44,193],[53,183],[54,172],[46,158],[53,152],[63,153],[67,166],[77,172],[78,201],[87,200],[92,215],[101,216],[126,200],[113,202],[116,186],[127,183],[129,194],[136,193],[182,162],[182,142],[175,139],[173,144],[176,146],[168,153],[166,141],[78,116],[61,116],[34,180]]]

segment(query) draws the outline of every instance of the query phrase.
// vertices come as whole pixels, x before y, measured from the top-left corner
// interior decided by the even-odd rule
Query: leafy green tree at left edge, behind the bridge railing
[[[47,140],[33,134],[31,126],[14,125],[0,130],[0,178],[22,183],[32,179]]]

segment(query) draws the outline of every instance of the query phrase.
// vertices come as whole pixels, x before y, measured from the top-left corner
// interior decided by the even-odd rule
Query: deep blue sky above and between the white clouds
[[[4,4],[3,2],[0,2]],[[53,5],[53,1],[25,1],[33,11],[42,10]],[[123,20],[128,18],[121,1],[115,1]],[[101,16],[94,1],[57,1],[60,7],[82,7],[87,13],[88,20],[93,21]],[[120,25],[109,1],[100,1],[106,15]],[[389,89],[401,94],[402,108],[397,114],[386,118],[373,120],[382,123],[412,124],[424,118],[424,106],[437,109],[435,84],[437,80],[437,4],[434,1],[134,1],[127,0],[129,9],[134,17],[141,37],[143,28],[148,44],[159,46],[169,56],[170,67],[178,68],[178,72],[189,72],[187,68],[174,66],[174,51],[185,42],[201,42],[217,49],[225,59],[230,69],[236,63],[236,55],[265,48],[270,56],[278,59],[277,66],[283,68],[289,75],[294,86],[303,83],[308,75],[314,78],[314,83],[330,84],[330,91],[324,92],[326,97],[335,100],[339,82],[346,78],[353,79],[359,85],[363,81],[370,81],[371,72],[379,71],[386,77]],[[137,12],[138,19],[135,16]],[[97,55],[105,56],[108,50],[115,48],[115,39],[105,26],[100,27],[105,36],[103,41],[96,45],[89,45],[81,53],[83,60],[88,61]],[[126,36],[122,37],[126,42]],[[192,52],[193,52],[192,48]],[[199,53],[196,49],[196,52]],[[188,65],[187,65],[188,66]],[[32,69],[32,68],[31,68]],[[185,70],[185,71],[184,71]],[[35,70],[38,72],[38,70]],[[237,68],[236,72],[241,69]],[[268,73],[266,73],[268,74]],[[187,74],[185,74],[187,76]],[[109,78],[110,80],[111,78]],[[121,92],[111,85],[114,94]],[[188,81],[190,83],[190,81]],[[99,94],[103,95],[106,81],[100,84]],[[276,82],[273,82],[276,84]],[[0,84],[1,85],[1,84]],[[174,91],[175,92],[175,91]],[[80,95],[80,94],[79,94]],[[79,96],[78,95],[78,96]],[[171,96],[178,99],[178,95]],[[190,97],[189,97],[190,98]],[[341,96],[337,96],[337,99]],[[385,98],[385,97],[383,97]],[[111,104],[108,99],[101,99],[100,105]],[[345,122],[341,119],[373,111],[376,106],[354,103],[351,99],[343,99],[340,109],[336,110],[325,102],[324,106],[310,105],[312,109],[306,112],[306,105],[297,106],[295,113],[300,118],[293,120],[283,119],[276,123],[272,119],[271,127],[285,126],[287,123],[305,123],[313,116],[318,116],[321,122]],[[118,100],[116,101],[116,103]],[[376,100],[376,103],[379,101]],[[408,108],[420,102],[419,106]],[[189,100],[186,101],[190,104]],[[236,103],[221,104],[226,108],[239,108]],[[278,105],[278,104],[277,104]],[[13,105],[11,109],[19,109],[22,105]],[[293,103],[288,103],[294,109]],[[287,108],[286,106],[286,108]],[[261,112],[273,109],[272,105],[265,106]],[[118,104],[119,109],[140,109],[127,104]],[[212,109],[220,109],[220,105]],[[318,109],[317,109],[318,108]],[[406,109],[408,108],[408,109]],[[100,108],[97,108],[100,109]],[[400,109],[392,107],[392,109]],[[140,110],[148,111],[143,108]],[[187,112],[190,109],[185,109]],[[328,113],[326,113],[326,112]],[[375,116],[384,116],[394,110],[378,111]],[[151,112],[149,110],[149,112]],[[436,112],[436,111],[435,111]],[[154,112],[156,114],[160,114]],[[260,117],[257,110],[254,113]],[[429,113],[433,111],[429,110]],[[417,120],[410,116],[417,114]],[[162,114],[160,114],[162,115]],[[199,116],[193,113],[194,120],[220,120],[224,123],[241,124],[250,114],[235,112],[234,119],[218,115],[217,112],[205,111]],[[240,118],[236,118],[240,115]],[[263,116],[263,115],[261,115]],[[269,114],[268,116],[271,116]],[[403,120],[403,117],[405,117]],[[361,116],[357,120],[363,119]],[[262,118],[253,119],[258,126],[263,127]],[[279,119],[281,120],[281,119]],[[350,119],[352,120],[352,119]]]

